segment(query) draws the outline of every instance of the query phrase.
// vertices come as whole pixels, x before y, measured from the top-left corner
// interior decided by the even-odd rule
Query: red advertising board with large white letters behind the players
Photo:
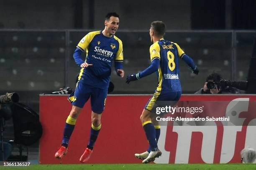
[[[88,163],[141,163],[134,153],[148,148],[140,115],[150,95],[111,95],[102,113],[102,128]],[[255,95],[182,95],[181,101],[225,101],[223,112],[236,108],[236,100],[256,101]],[[237,102],[236,102],[237,103]],[[243,105],[245,105],[243,103]],[[65,121],[72,105],[66,95],[40,96],[40,163],[59,164],[54,154],[61,144]],[[248,102],[241,112],[253,110]],[[229,109],[230,108],[230,109]],[[240,109],[241,107],[239,107]],[[222,109],[222,107],[221,107]],[[241,116],[237,111],[237,116]],[[246,110],[247,109],[247,110]],[[233,114],[233,112],[232,112]],[[61,163],[77,164],[87,146],[91,126],[90,101],[82,110]],[[256,116],[255,116],[256,117]],[[155,163],[240,163],[245,147],[256,149],[256,119],[244,119],[242,126],[162,126]],[[251,123],[254,126],[247,126]],[[255,143],[255,144],[254,144]]]

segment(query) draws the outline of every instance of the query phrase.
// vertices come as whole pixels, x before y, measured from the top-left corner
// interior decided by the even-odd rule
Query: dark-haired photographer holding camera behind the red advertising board
[[[222,79],[220,74],[213,72],[206,77],[204,87],[195,94],[240,94],[243,93],[240,90],[246,90],[246,88],[246,81],[227,81]]]

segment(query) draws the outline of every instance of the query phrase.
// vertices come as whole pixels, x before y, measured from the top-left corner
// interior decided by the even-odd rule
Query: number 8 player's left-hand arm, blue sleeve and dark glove
[[[147,67],[142,72],[139,72],[137,74],[131,74],[126,77],[126,83],[129,84],[131,81],[136,81],[141,79],[142,77],[146,77],[147,75],[151,75],[153,72],[156,72],[159,68],[160,59],[156,58],[152,60],[151,65]]]

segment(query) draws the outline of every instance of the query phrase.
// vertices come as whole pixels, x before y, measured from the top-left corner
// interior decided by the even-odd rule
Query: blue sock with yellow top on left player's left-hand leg
[[[66,125],[65,125],[64,133],[63,133],[63,139],[62,139],[62,143],[61,143],[61,145],[66,148],[68,147],[69,139],[73,133],[74,125],[76,124],[76,121],[77,120],[72,118],[71,116],[68,116],[68,118],[66,120]]]

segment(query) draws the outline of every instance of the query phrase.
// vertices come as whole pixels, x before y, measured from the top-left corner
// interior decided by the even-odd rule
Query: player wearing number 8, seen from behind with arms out
[[[127,76],[126,83],[139,80],[142,77],[157,72],[158,87],[154,95],[148,100],[148,103],[141,114],[141,123],[149,142],[149,148],[146,152],[135,154],[136,158],[143,159],[142,163],[149,163],[155,158],[161,156],[157,141],[160,136],[160,125],[151,115],[151,110],[156,101],[178,101],[181,96],[181,85],[179,80],[179,58],[184,60],[196,75],[199,70],[194,61],[184,53],[177,43],[164,40],[165,24],[162,21],[151,23],[149,30],[151,42],[150,47],[151,65],[137,74]]]

